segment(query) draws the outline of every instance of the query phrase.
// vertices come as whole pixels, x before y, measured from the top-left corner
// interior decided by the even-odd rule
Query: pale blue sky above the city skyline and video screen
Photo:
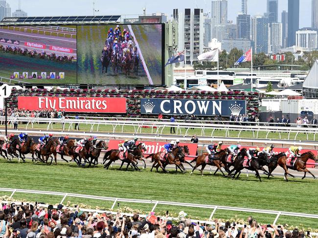
[[[146,13],[163,12],[172,14],[174,8],[203,8],[210,11],[211,0],[21,0],[22,9],[29,16],[76,16],[92,15],[92,2],[96,15],[141,15],[142,8]],[[287,10],[288,0],[279,0],[278,12]],[[12,12],[18,8],[18,0],[7,0]],[[300,27],[311,26],[311,0],[300,0]],[[241,10],[241,0],[228,0],[228,20],[235,21]],[[248,12],[251,15],[266,12],[266,0],[248,0]],[[129,18],[129,16],[127,16]],[[280,14],[279,14],[280,20]]]

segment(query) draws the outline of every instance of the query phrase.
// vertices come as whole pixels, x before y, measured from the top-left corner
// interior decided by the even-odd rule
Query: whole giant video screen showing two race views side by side
[[[2,81],[162,85],[162,24],[3,26]]]

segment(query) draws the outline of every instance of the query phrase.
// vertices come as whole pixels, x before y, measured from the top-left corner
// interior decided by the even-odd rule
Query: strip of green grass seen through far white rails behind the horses
[[[75,131],[74,130],[74,126],[75,124],[73,123],[72,124],[72,127],[69,127],[69,123],[66,123],[65,124],[65,127],[64,127],[64,130],[65,131],[68,131],[68,128],[70,129],[70,131]],[[3,125],[0,126],[0,128],[3,127]],[[20,130],[23,130],[23,129],[43,129],[43,130],[46,130],[47,129],[47,124],[37,124],[37,123],[34,123],[33,124],[33,127],[32,127],[32,124],[28,124],[28,126],[26,127],[26,124],[19,124],[18,125],[18,128]],[[51,124],[51,126],[49,127],[49,130],[59,130],[61,131],[63,128],[62,126],[62,123],[56,123],[56,124]],[[124,132],[124,133],[136,133],[136,130],[137,130],[137,126],[134,127],[134,126],[117,126],[115,128],[115,131],[114,132]],[[155,134],[156,133],[156,130],[157,129],[152,129],[152,128],[142,128],[141,129],[141,133],[145,133],[145,134]],[[91,124],[80,124],[80,131],[86,131],[86,132],[90,132],[91,131]],[[92,131],[93,132],[97,132],[97,125],[94,125],[92,127]],[[107,124],[107,121],[106,121],[106,125],[99,125],[98,127],[98,132],[113,132],[113,126],[112,125],[109,125]],[[140,133],[140,131],[138,131],[138,133]],[[187,133],[187,134],[186,134]],[[182,129],[181,131],[181,134],[180,134],[180,131],[178,132],[178,135],[181,135],[181,136],[192,136],[194,134],[196,134],[197,136],[201,136],[201,133],[202,133],[202,130],[201,129],[194,129],[194,130],[191,130],[189,129],[188,132],[186,132],[186,129]],[[170,128],[164,128],[163,131],[161,132],[161,129],[159,130],[159,134],[166,134],[166,135],[170,135]],[[206,137],[209,137],[212,135],[212,130],[211,129],[205,129],[204,130],[204,136]],[[259,132],[258,133],[258,139],[266,139],[266,136],[267,136],[267,139],[288,139],[288,133],[280,133],[281,135],[281,138],[279,138],[279,134],[276,133],[276,132],[270,132],[268,135],[267,135],[267,131],[263,131],[263,132]],[[294,140],[295,139],[295,136],[296,136],[296,133],[291,133],[290,134],[290,138],[291,140]],[[220,130],[215,130],[213,132],[213,137],[226,137],[226,131],[223,130],[223,129],[220,129]],[[245,138],[245,139],[254,139],[256,138],[256,132],[253,133],[250,132],[250,131],[242,131],[240,134],[239,134],[239,131],[229,131],[229,137],[231,138]],[[228,138],[228,136],[227,136]],[[307,136],[306,134],[304,133],[300,133],[297,135],[296,137],[297,140],[307,140]],[[314,134],[308,134],[308,140],[314,140]],[[318,137],[315,138],[315,140],[318,140]]]

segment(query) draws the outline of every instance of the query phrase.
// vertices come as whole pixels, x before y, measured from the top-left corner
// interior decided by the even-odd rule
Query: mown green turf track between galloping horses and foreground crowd
[[[79,193],[114,198],[136,198],[190,202],[200,204],[246,207],[254,209],[280,210],[298,213],[318,213],[318,203],[314,202],[317,196],[318,181],[314,179],[290,179],[285,182],[282,177],[267,180],[262,177],[260,183],[254,176],[241,175],[239,180],[210,176],[205,172],[204,177],[196,171],[189,173],[169,174],[150,172],[149,169],[141,172],[118,171],[117,166],[109,170],[101,166],[96,168],[78,168],[74,163],[59,163],[47,166],[42,163],[6,162],[0,160],[0,182],[2,187],[34,189],[56,192]],[[25,171],[25,173],[23,173]],[[8,193],[0,192],[0,196]],[[50,203],[59,203],[61,196],[43,196],[36,194],[17,193],[13,198],[41,200]],[[109,209],[113,202],[83,198],[67,197],[65,204],[88,204],[92,208]],[[153,204],[137,204],[120,202],[115,209],[124,207],[148,212]],[[192,218],[207,219],[211,209],[197,209],[190,207],[173,207],[158,205],[156,212],[169,210],[178,214],[180,211],[188,213]],[[248,213],[217,210],[215,218],[246,218]],[[252,214],[262,223],[273,222],[274,215]],[[279,223],[318,228],[317,219],[282,217]]]

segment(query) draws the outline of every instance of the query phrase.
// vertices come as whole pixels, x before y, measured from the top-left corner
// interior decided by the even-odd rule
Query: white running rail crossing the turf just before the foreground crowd
[[[153,204],[152,212],[155,211],[157,205],[167,205],[167,206],[181,206],[181,207],[192,207],[192,208],[205,208],[211,210],[211,215],[209,220],[212,219],[216,210],[227,210],[227,211],[238,211],[238,212],[249,212],[249,213],[261,213],[261,214],[273,214],[276,215],[276,218],[273,221],[275,224],[279,216],[290,216],[290,217],[300,217],[300,218],[318,218],[316,214],[306,214],[306,213],[293,213],[293,212],[284,212],[284,211],[274,211],[274,210],[262,210],[262,209],[252,209],[252,208],[242,208],[242,207],[228,207],[228,206],[219,206],[219,205],[207,205],[207,204],[195,204],[195,203],[182,203],[182,202],[173,202],[173,201],[160,201],[160,200],[143,200],[143,199],[129,199],[129,198],[111,198],[111,197],[101,197],[94,195],[82,195],[74,193],[61,193],[61,192],[49,192],[49,191],[39,191],[39,190],[26,190],[26,189],[12,189],[12,188],[0,188],[2,192],[12,192],[10,198],[17,193],[29,193],[29,194],[43,194],[43,195],[55,195],[63,196],[61,204],[64,202],[67,197],[74,198],[88,198],[88,199],[97,199],[104,201],[114,201],[111,209],[114,209],[114,206],[117,202],[132,202],[132,203],[142,203],[142,204]],[[197,220],[196,220],[197,221]],[[205,221],[202,221],[202,223]]]

